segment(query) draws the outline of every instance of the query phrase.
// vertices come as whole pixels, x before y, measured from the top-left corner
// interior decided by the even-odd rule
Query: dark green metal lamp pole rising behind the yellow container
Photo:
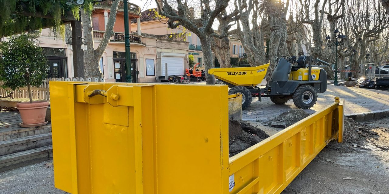
[[[126,47],[126,82],[132,82],[131,77],[131,54],[130,54],[130,29],[128,26],[128,0],[124,3],[124,45]]]

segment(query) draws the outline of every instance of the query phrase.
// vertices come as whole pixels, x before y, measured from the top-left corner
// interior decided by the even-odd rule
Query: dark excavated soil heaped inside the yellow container
[[[231,119],[228,122],[228,132],[230,157],[270,137],[263,130],[247,122]]]

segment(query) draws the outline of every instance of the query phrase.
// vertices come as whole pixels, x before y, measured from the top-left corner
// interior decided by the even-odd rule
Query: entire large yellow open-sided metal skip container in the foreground
[[[54,182],[72,194],[280,193],[343,117],[334,103],[229,159],[226,85],[51,81],[50,95]]]

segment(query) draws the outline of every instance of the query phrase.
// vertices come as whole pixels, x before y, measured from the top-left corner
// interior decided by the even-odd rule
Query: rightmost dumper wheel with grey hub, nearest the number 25
[[[293,94],[293,102],[298,108],[310,109],[316,104],[317,93],[310,85],[301,85]]]

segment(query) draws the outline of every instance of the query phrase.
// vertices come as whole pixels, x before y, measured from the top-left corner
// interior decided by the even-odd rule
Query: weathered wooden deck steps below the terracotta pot
[[[0,172],[53,158],[51,123],[22,128],[20,114],[0,112]]]

